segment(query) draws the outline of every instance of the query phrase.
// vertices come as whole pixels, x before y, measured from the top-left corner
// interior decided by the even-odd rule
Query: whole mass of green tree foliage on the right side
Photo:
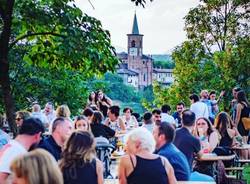
[[[227,91],[226,108],[235,85],[249,92],[249,9],[248,0],[202,0],[191,9],[185,16],[188,41],[172,54],[175,82],[154,87],[155,103],[189,105],[189,94],[213,89]]]

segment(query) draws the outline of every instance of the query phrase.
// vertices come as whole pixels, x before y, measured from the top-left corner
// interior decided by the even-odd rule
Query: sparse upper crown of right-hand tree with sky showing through
[[[185,30],[191,40],[207,51],[225,51],[237,38],[249,37],[249,0],[201,0],[185,16]]]

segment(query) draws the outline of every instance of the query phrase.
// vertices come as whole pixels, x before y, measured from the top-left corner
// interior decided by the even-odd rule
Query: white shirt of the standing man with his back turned
[[[208,107],[203,102],[195,102],[190,106],[190,110],[195,113],[195,119],[205,117],[208,119]]]

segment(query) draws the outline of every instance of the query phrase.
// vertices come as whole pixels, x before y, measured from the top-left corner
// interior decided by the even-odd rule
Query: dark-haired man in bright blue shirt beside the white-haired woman
[[[156,154],[168,159],[174,168],[175,177],[178,181],[188,181],[190,167],[186,156],[172,143],[175,130],[169,123],[162,122],[154,126],[153,136],[156,142]]]

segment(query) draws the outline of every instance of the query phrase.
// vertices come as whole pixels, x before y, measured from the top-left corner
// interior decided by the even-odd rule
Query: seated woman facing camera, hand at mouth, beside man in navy
[[[211,122],[204,117],[198,118],[195,122],[194,136],[201,141],[203,153],[211,153],[219,144],[217,131],[212,127]]]

